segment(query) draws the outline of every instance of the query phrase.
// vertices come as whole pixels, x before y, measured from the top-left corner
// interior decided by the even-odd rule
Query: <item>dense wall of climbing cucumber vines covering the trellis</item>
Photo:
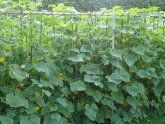
[[[115,17],[115,49],[111,16],[1,15],[0,122],[136,124],[164,114],[164,20],[150,17],[164,13],[128,11]]]

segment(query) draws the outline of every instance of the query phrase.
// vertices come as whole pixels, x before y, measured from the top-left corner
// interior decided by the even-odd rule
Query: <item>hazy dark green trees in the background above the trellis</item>
[[[49,4],[64,3],[74,6],[79,11],[98,11],[100,8],[111,8],[113,6],[122,6],[125,9],[158,6],[161,10],[165,10],[164,0],[43,0],[42,3],[45,8]]]

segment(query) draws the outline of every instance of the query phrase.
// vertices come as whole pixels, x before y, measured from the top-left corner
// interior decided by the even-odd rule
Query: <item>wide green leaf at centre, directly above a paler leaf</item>
[[[86,74],[101,75],[103,72],[97,64],[86,64],[80,67],[80,72]]]

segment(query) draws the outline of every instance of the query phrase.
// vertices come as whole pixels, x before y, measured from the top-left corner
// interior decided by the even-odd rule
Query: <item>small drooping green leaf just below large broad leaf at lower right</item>
[[[132,106],[134,109],[139,105],[139,101],[135,97],[128,96],[127,102],[130,106]]]

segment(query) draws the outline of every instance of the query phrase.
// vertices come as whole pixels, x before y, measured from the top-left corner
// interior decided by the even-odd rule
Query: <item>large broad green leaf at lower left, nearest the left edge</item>
[[[6,95],[6,103],[9,104],[10,107],[28,108],[28,100],[25,99],[25,97],[19,90],[15,90],[14,92],[8,93]]]

